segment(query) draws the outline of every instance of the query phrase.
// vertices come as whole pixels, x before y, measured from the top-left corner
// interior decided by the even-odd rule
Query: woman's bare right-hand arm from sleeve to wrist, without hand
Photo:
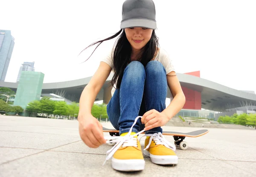
[[[178,80],[175,72],[174,71],[170,72],[169,74],[166,75],[166,77],[167,77],[168,87],[173,96],[173,100],[169,104],[169,106],[162,111],[162,113],[165,113],[169,119],[172,119],[172,117],[175,116],[182,109],[182,107],[186,102],[186,98],[181,89],[180,81]]]

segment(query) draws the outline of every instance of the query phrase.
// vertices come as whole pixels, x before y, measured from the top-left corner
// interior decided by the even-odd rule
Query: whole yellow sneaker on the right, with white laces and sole
[[[176,147],[168,142],[162,133],[146,134],[145,156],[150,157],[151,161],[156,164],[168,165],[177,164],[178,157],[175,154]]]

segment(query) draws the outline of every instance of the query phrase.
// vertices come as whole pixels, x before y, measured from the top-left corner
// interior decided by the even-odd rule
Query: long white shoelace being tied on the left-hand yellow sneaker
[[[132,128],[134,127],[134,125],[136,124],[137,120],[139,118],[142,118],[142,116],[137,116],[133,125],[131,126],[130,128],[130,131],[128,132],[127,135],[125,136],[107,136],[107,137],[104,137],[108,142],[116,142],[116,144],[113,146],[113,148],[111,148],[110,150],[107,151],[107,157],[106,157],[106,160],[109,160],[113,154],[115,154],[115,152],[117,151],[117,149],[120,148],[120,146],[122,147],[128,147],[128,146],[134,146],[134,147],[137,147],[137,138],[134,138],[134,136],[137,136],[139,135],[140,133],[143,133],[144,130],[134,134],[134,135],[131,135],[131,131],[132,131]],[[105,162],[103,163],[103,165],[105,164]]]

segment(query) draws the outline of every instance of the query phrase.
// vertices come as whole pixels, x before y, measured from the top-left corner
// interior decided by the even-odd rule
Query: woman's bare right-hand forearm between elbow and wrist
[[[184,106],[186,98],[183,93],[178,93],[172,99],[172,102],[162,112],[165,113],[169,119],[172,119]]]

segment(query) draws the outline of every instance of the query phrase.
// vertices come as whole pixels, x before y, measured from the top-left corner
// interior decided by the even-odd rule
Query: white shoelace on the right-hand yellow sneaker
[[[166,146],[166,148],[172,149],[173,151],[176,150],[176,146],[172,145],[169,141],[167,141],[161,132],[154,133],[154,134],[145,134],[144,136],[151,136],[149,139],[149,143],[144,150],[149,148],[152,139],[156,145],[164,145],[164,146]]]

